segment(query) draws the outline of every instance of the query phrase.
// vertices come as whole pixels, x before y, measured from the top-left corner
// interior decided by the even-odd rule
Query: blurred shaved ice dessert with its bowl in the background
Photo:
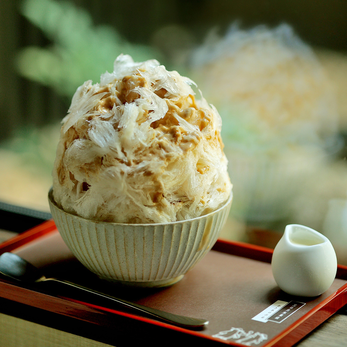
[[[341,146],[327,72],[287,24],[234,24],[196,48],[189,68],[223,121],[232,214],[272,229],[289,218],[306,181]]]

